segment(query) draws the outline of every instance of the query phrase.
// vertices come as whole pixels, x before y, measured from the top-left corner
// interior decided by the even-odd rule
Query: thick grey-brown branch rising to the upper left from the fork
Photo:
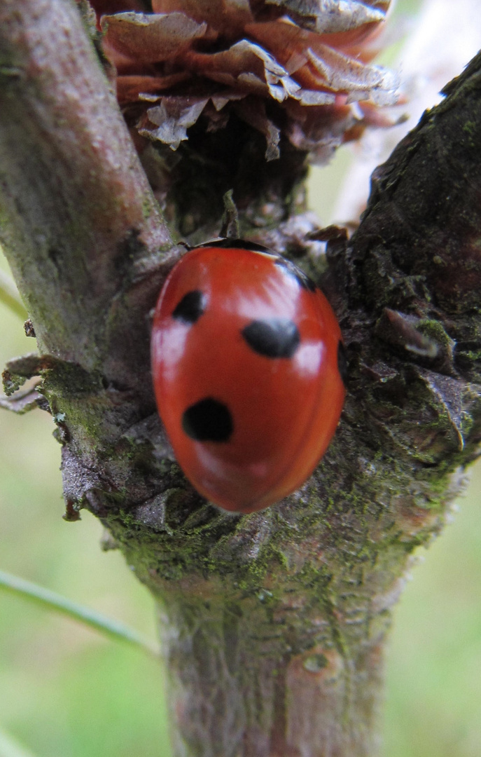
[[[39,346],[138,385],[126,342],[145,350],[169,232],[76,5],[2,0],[0,56],[2,244]]]

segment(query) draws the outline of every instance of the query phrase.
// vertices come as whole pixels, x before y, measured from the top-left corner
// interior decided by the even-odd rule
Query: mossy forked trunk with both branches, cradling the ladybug
[[[42,373],[67,516],[101,518],[159,602],[175,754],[373,757],[393,606],[481,437],[481,60],[380,167],[323,266],[305,155],[265,164],[237,123],[216,139],[255,173],[206,182],[216,148],[198,135],[168,180],[145,157],[174,231],[218,232],[234,188],[242,233],[308,267],[343,329],[334,443],[298,492],[233,516],[185,481],[155,413],[148,315],[178,249],[77,8],[3,0],[0,56],[0,234],[42,351],[7,388]]]

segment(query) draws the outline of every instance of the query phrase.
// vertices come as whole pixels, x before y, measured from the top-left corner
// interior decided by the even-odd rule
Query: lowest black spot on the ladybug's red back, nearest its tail
[[[205,397],[182,415],[182,428],[194,441],[228,441],[234,431],[234,423],[228,407]]]

